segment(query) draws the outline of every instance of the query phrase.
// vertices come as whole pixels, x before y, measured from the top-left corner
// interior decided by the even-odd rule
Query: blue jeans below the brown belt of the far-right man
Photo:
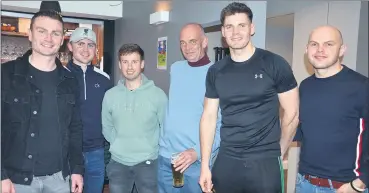
[[[309,183],[300,173],[297,173],[296,193],[336,193],[336,189],[332,187],[319,187]],[[364,192],[368,193],[368,189]]]

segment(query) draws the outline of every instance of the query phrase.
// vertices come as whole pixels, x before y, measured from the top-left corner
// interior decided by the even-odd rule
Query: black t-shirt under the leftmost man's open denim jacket
[[[42,97],[39,115],[38,133],[34,139],[38,141],[35,159],[35,176],[45,176],[61,171],[61,136],[58,128],[57,95],[58,84],[57,69],[44,72],[31,65],[30,73],[33,76],[38,92]]]

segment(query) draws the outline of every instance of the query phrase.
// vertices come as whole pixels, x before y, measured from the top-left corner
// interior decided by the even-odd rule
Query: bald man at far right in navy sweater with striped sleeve
[[[306,55],[315,73],[300,85],[297,193],[368,192],[368,78],[342,65],[345,51],[335,27],[310,34]]]

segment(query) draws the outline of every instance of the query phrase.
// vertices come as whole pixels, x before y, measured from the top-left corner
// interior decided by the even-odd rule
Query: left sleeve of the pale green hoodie
[[[109,95],[108,92],[106,92],[102,103],[101,121],[102,121],[102,133],[106,141],[111,143],[115,138],[115,129],[113,125],[112,111],[108,100]]]

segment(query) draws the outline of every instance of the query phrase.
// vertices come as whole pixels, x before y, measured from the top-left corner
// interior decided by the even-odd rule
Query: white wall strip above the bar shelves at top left
[[[123,17],[123,1],[59,1],[63,16],[94,19]],[[35,13],[41,1],[1,1],[1,9]]]

